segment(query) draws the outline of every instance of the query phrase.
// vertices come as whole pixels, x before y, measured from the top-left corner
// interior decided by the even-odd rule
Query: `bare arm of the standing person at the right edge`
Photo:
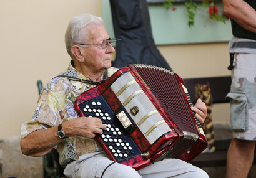
[[[256,34],[256,11],[243,0],[222,0],[225,13],[244,29]]]

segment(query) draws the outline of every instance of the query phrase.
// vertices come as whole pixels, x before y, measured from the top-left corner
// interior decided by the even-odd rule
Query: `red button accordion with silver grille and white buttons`
[[[207,148],[176,73],[152,65],[127,65],[75,101],[79,115],[97,117],[107,130],[96,139],[109,159],[141,169],[165,158],[192,161]]]

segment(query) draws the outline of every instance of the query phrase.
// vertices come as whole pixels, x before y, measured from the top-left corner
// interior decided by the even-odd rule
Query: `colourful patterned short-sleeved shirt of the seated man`
[[[116,68],[109,68],[108,76],[111,76],[116,70]],[[60,75],[89,79],[72,67],[71,63],[67,70],[60,73]],[[77,115],[74,108],[74,101],[82,92],[95,86],[64,77],[53,78],[42,89],[32,119],[22,124],[21,138],[38,129],[51,128],[69,119],[78,118],[79,115]],[[59,152],[60,164],[64,167],[77,160],[82,154],[102,151],[102,147],[96,139],[81,136],[64,139],[64,141],[56,145],[56,149]]]

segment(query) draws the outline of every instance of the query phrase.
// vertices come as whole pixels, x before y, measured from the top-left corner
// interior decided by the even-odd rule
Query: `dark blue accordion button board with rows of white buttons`
[[[128,136],[127,131],[122,129],[121,123],[102,96],[81,103],[79,107],[84,116],[100,118],[102,123],[106,125],[107,129],[99,137],[116,160],[141,153],[134,141]]]

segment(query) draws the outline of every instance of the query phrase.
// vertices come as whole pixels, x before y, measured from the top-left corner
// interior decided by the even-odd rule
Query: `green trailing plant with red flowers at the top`
[[[175,11],[176,7],[174,7],[174,2],[175,0],[166,0],[166,2],[164,2],[164,7],[166,7],[167,9],[172,7],[172,11]],[[204,8],[208,7],[207,14],[209,14],[210,19],[214,21],[224,22],[224,24],[226,19],[230,19],[230,17],[227,14],[225,14],[224,11],[221,13],[221,15],[219,15],[219,9],[217,6],[215,6],[214,0],[202,0],[201,4],[202,7]],[[187,8],[187,24],[189,27],[192,27],[194,26],[195,13],[197,11],[197,3],[195,1],[189,0],[185,1],[184,5]],[[200,10],[205,11],[205,9]]]

